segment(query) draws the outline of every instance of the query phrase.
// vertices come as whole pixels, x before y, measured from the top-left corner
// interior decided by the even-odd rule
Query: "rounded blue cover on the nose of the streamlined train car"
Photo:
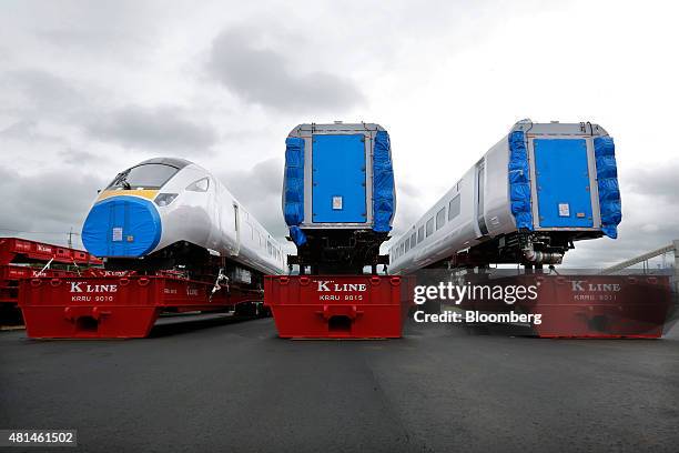
[[[82,226],[82,243],[94,256],[138,258],[151,252],[162,232],[149,200],[113,197],[94,204]]]

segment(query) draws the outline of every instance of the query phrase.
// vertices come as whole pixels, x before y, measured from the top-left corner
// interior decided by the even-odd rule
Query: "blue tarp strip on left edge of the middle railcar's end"
[[[298,228],[304,221],[304,139],[288,137],[285,140],[285,178],[283,182],[283,213],[295,244],[306,242]]]

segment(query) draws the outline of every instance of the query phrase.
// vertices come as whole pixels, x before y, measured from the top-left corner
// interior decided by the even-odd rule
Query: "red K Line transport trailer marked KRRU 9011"
[[[667,275],[518,275],[484,283],[537,285],[535,301],[467,300],[460,308],[541,314],[541,323],[533,325],[540,338],[657,339],[675,310]]]

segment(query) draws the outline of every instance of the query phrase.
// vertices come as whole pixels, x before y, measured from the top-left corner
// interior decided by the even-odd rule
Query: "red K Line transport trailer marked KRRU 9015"
[[[389,275],[267,275],[264,304],[282,338],[401,338],[413,281]]]

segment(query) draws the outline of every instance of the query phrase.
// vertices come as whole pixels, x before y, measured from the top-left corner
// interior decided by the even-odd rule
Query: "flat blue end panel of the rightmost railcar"
[[[585,139],[536,139],[536,189],[541,228],[591,228]]]

